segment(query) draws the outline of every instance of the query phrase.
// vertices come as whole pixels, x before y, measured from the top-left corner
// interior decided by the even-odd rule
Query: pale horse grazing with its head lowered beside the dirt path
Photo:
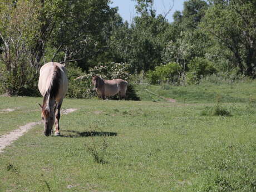
[[[42,120],[45,124],[46,136],[51,135],[52,126],[55,123],[55,135],[60,135],[60,110],[63,97],[67,92],[68,80],[66,69],[61,63],[50,62],[40,69],[38,88],[43,96]],[[56,120],[55,120],[56,118]]]

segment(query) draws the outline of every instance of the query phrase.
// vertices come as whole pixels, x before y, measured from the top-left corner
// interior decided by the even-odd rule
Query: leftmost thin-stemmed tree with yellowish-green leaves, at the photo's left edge
[[[37,63],[31,48],[38,40],[40,4],[4,0],[0,9],[0,81],[2,90],[14,95],[35,84]]]

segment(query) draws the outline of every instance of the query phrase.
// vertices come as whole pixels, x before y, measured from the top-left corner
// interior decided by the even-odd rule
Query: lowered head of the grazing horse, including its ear
[[[42,117],[43,123],[45,124],[45,130],[43,131],[43,134],[45,134],[45,136],[49,136],[51,135],[52,126],[55,122],[55,109],[49,109],[44,105],[43,106],[40,105],[40,107],[42,111],[41,117]]]

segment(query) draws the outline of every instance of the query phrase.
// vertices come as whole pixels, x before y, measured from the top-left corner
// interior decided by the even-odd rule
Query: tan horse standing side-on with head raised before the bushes
[[[92,83],[96,88],[98,96],[105,100],[106,96],[114,96],[117,93],[125,98],[128,82],[117,78],[116,80],[104,80],[100,76],[93,75]]]

